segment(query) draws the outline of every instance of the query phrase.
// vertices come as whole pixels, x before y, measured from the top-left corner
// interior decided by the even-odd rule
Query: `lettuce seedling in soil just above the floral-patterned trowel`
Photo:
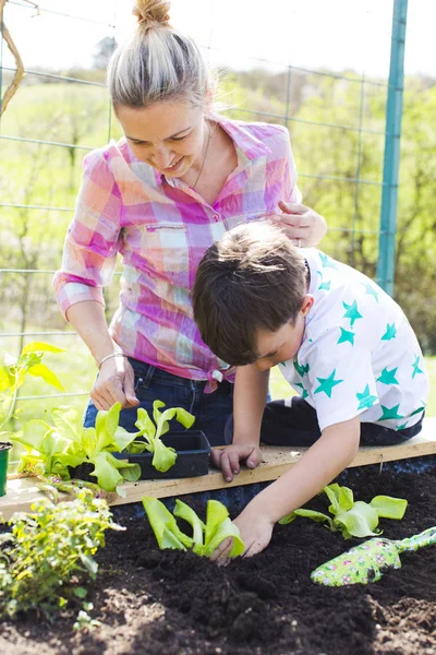
[[[296,516],[306,516],[326,524],[331,532],[340,532],[346,539],[367,537],[382,534],[383,531],[377,529],[379,519],[400,520],[408,507],[407,500],[389,496],[376,496],[370,503],[361,500],[354,502],[352,490],[336,483],[324,487],[323,491],[331,503],[328,511],[332,519],[323,512],[300,509],[283,516],[279,523],[288,524]]]

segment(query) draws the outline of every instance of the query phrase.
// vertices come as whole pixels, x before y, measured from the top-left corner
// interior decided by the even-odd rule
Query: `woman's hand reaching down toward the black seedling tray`
[[[126,357],[110,357],[100,366],[90,391],[90,398],[98,410],[110,409],[114,403],[121,407],[137,407],[135,374]]]

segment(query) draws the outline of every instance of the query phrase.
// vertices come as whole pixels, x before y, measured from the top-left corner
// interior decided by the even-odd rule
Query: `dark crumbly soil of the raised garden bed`
[[[368,466],[339,478],[358,500],[407,498],[402,521],[384,520],[384,536],[400,539],[436,524],[436,462],[416,467]],[[184,499],[186,500],[186,499]],[[204,514],[204,497],[190,504]],[[197,505],[197,507],[195,507]],[[310,503],[326,510],[323,497]],[[218,568],[192,553],[159,551],[146,519],[131,508],[107,534],[99,572],[87,583],[93,630],[73,630],[77,607],[49,623],[35,614],[0,626],[8,655],[390,655],[436,654],[436,547],[402,553],[400,570],[368,585],[324,587],[310,580],[344,541],[299,519],[277,526],[270,546]]]

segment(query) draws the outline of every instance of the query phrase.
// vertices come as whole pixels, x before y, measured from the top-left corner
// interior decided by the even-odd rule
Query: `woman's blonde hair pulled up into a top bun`
[[[117,48],[108,68],[116,108],[169,99],[205,107],[210,86],[207,64],[197,45],[170,26],[169,8],[165,0],[135,1],[136,31]]]

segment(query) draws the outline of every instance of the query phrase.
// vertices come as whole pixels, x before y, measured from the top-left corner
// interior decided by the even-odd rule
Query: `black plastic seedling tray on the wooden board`
[[[178,454],[174,465],[166,473],[156,471],[152,464],[153,453],[147,451],[138,454],[112,453],[112,455],[118,460],[140,464],[141,480],[195,477],[208,474],[210,444],[204,432],[201,430],[167,432],[161,440],[165,445],[173,448]],[[95,483],[96,477],[89,475],[93,471],[93,464],[84,463],[75,468],[70,468],[70,474],[71,477]]]

